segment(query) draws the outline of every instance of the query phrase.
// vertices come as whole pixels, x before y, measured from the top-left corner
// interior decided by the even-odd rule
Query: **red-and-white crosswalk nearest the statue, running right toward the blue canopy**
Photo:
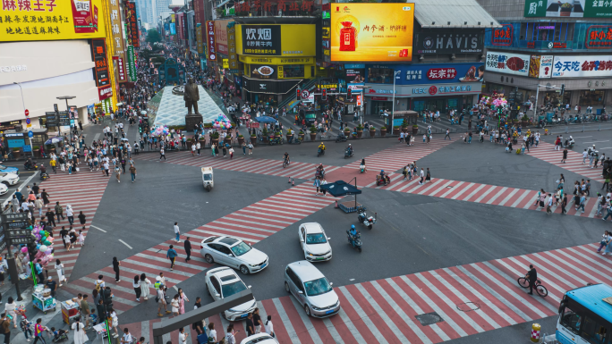
[[[146,161],[159,160],[159,156],[154,154],[132,156],[136,159]],[[191,152],[176,152],[166,156],[168,160],[162,161],[163,163],[183,164],[196,167],[210,166],[220,170],[267,174],[278,177],[291,177],[293,179],[314,178],[318,166],[318,164],[292,162],[288,167],[283,168],[283,162],[281,160],[254,158],[250,155],[242,155],[242,152],[234,155],[232,159],[229,158],[229,155],[225,158],[222,155],[217,155],[216,157],[210,155],[193,156]],[[340,168],[339,166],[330,165],[323,165],[323,167],[326,172],[332,172]]]

